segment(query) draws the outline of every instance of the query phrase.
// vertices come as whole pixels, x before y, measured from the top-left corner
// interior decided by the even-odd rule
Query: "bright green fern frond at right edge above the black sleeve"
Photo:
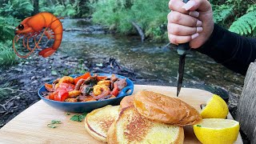
[[[242,34],[242,35],[254,35],[254,29],[256,27],[256,11],[250,11],[247,14],[242,15],[242,17],[238,18],[236,21],[232,23],[230,26],[230,31]]]

